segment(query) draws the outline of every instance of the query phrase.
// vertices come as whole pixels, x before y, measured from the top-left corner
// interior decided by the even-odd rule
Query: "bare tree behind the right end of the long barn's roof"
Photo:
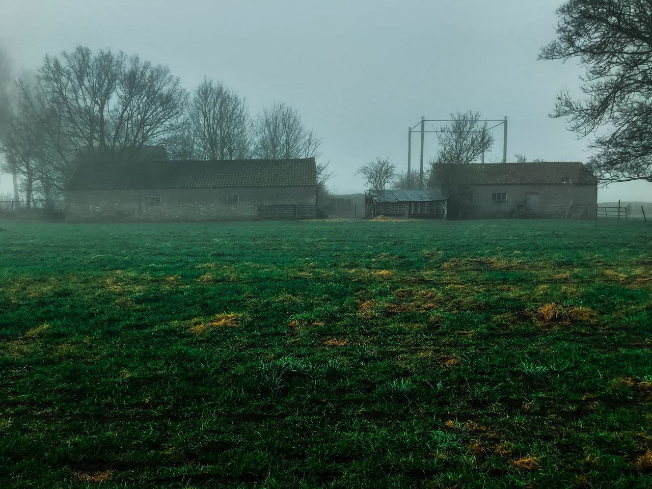
[[[253,153],[256,158],[284,160],[317,158],[321,139],[301,122],[297,110],[286,104],[263,109],[254,124]]]

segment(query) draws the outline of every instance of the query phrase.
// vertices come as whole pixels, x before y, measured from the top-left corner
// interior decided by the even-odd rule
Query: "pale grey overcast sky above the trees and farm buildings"
[[[576,92],[573,63],[537,61],[554,38],[556,0],[3,0],[0,43],[22,68],[77,44],[164,63],[192,89],[208,76],[245,96],[299,110],[323,138],[331,189],[374,156],[407,168],[408,126],[479,110],[509,117],[514,153],[585,161],[586,141],[550,119],[556,93]],[[500,130],[500,128],[498,128]],[[426,157],[437,151],[426,135]],[[502,157],[502,133],[488,160]],[[418,166],[418,138],[413,138]],[[0,190],[10,189],[7,177]],[[652,184],[601,188],[599,200],[652,200]]]

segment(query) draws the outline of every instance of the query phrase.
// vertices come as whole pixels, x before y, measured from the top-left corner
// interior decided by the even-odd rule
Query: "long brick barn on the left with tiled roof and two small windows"
[[[87,162],[65,189],[67,222],[314,218],[314,158]]]

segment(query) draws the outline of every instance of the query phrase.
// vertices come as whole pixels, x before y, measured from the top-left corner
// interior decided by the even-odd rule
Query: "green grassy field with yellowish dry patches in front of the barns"
[[[0,487],[649,488],[651,238],[0,222]]]

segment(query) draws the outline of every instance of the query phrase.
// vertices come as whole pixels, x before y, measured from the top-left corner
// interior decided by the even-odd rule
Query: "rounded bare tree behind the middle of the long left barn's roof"
[[[250,117],[244,99],[204,79],[190,98],[188,119],[196,152],[207,160],[237,160],[250,152]]]

